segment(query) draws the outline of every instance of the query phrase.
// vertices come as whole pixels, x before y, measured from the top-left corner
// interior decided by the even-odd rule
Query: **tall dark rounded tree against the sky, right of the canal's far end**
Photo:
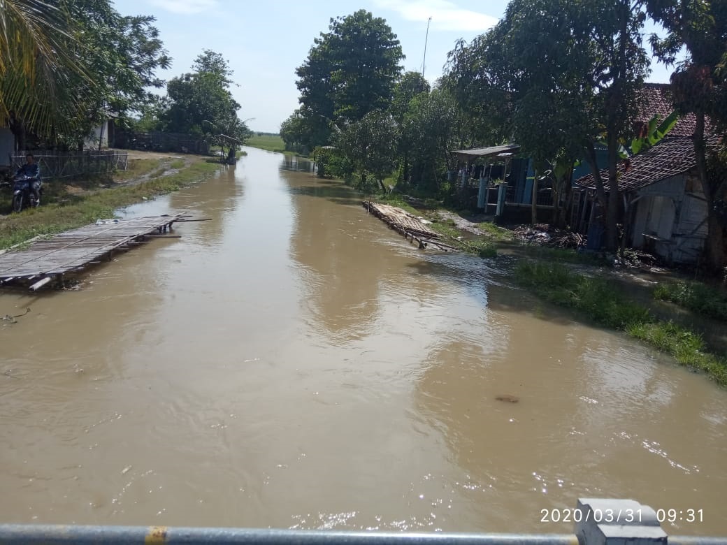
[[[328,143],[332,124],[359,121],[390,106],[401,73],[401,46],[386,20],[361,9],[332,19],[295,71],[302,105],[298,140],[313,149]]]

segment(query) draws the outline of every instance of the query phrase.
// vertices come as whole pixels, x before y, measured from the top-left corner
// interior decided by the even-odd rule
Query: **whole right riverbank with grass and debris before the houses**
[[[433,230],[462,251],[483,258],[502,253],[516,257],[510,276],[521,288],[599,326],[623,331],[727,387],[727,334],[723,333],[727,291],[723,288],[686,282],[665,270],[659,270],[661,280],[622,274],[598,255],[527,243],[515,231],[482,217],[472,221],[403,195],[379,195],[377,201],[427,219]],[[639,272],[637,267],[633,271]]]

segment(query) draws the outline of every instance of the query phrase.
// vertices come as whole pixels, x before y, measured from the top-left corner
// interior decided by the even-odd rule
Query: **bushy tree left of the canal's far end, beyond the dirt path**
[[[246,140],[250,131],[237,116],[240,105],[230,92],[233,82],[228,62],[207,49],[198,55],[192,69],[195,71],[172,78],[166,85],[168,108],[161,114],[164,129]]]

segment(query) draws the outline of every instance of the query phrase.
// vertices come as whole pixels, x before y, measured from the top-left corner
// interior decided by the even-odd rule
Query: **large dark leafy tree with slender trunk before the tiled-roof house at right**
[[[528,142],[537,163],[558,156],[568,162],[582,148],[606,209],[612,250],[619,150],[632,131],[648,70],[645,17],[640,0],[513,0],[498,25],[469,46],[458,44],[449,60],[449,85],[495,141]],[[608,146],[607,186],[595,163],[599,134]]]

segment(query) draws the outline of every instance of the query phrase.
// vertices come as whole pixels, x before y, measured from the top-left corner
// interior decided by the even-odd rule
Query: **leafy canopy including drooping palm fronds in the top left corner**
[[[170,59],[149,16],[122,17],[108,0],[7,0],[0,12],[0,116],[26,132],[75,142],[108,113],[152,100]]]

